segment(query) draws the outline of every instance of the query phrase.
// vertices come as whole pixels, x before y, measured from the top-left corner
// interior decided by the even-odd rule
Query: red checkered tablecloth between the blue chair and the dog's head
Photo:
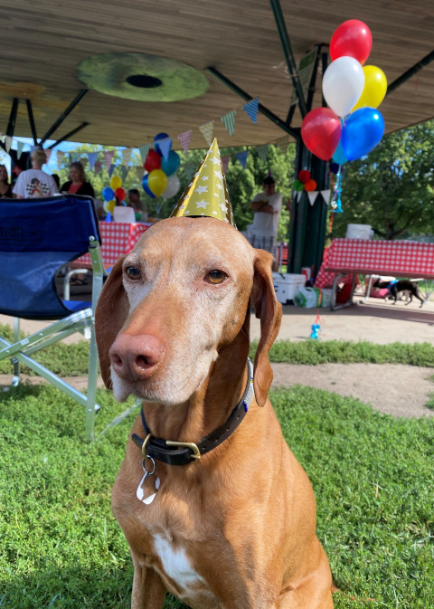
[[[151,224],[137,223],[127,224],[124,222],[100,222],[99,233],[101,234],[102,261],[106,269],[113,266],[118,257],[123,253],[129,253],[137,243],[139,237]],[[90,266],[90,255],[86,254],[74,261],[77,264]]]

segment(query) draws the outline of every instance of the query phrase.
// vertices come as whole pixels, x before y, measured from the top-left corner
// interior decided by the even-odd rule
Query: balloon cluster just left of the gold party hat
[[[154,138],[154,148],[147,153],[143,167],[148,173],[142,178],[142,186],[146,195],[153,199],[160,195],[168,199],[176,195],[181,186],[176,176],[181,160],[171,147],[171,138],[166,133],[158,133]]]

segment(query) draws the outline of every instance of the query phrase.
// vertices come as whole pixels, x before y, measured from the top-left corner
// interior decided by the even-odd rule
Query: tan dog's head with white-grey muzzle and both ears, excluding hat
[[[101,374],[117,399],[184,403],[222,350],[247,344],[251,297],[261,320],[254,390],[265,404],[281,319],[271,262],[213,218],[170,218],[146,231],[110,271],[96,310]]]

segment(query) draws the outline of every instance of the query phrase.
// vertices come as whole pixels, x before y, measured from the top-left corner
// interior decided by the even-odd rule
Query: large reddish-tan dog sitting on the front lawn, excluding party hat
[[[112,492],[133,609],[160,609],[166,591],[193,609],[333,609],[314,493],[268,399],[281,320],[271,264],[231,224],[169,218],[101,292],[104,382],[143,403]]]

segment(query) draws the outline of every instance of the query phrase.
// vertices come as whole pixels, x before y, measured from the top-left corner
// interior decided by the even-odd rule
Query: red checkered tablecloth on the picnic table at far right
[[[434,279],[434,243],[334,239],[315,285],[328,285],[337,272]]]

